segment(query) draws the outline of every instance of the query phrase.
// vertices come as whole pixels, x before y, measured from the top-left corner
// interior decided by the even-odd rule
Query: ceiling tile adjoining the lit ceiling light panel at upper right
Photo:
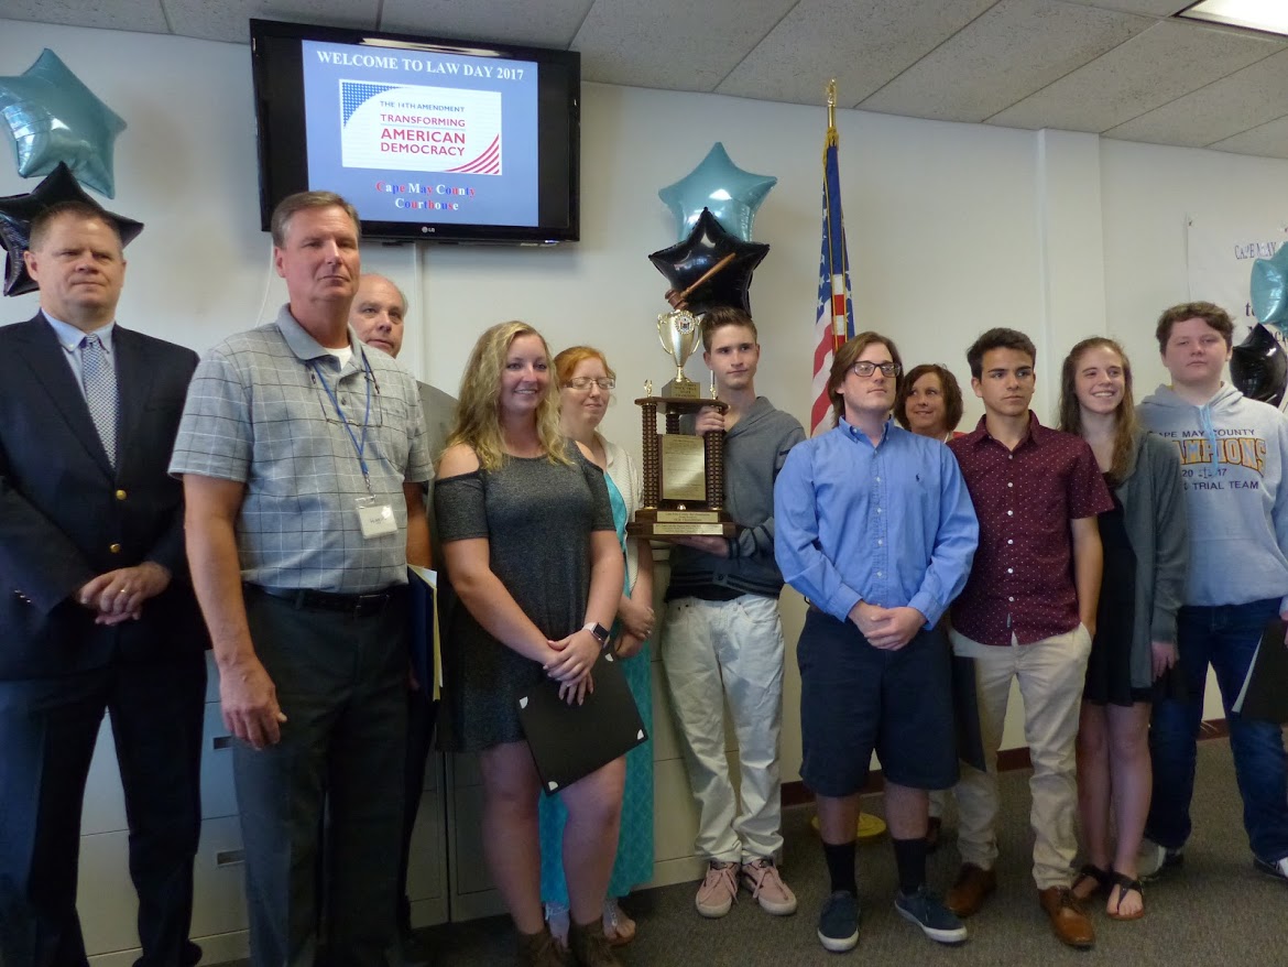
[[[1163,21],[988,122],[1105,132],[1284,46],[1251,34]]]

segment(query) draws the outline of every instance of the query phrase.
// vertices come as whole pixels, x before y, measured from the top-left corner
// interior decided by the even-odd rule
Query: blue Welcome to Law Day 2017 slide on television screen
[[[309,187],[376,222],[537,224],[537,64],[304,48]]]

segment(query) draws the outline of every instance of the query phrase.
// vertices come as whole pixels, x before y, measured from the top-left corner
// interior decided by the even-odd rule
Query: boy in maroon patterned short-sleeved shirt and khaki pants
[[[966,353],[971,387],[984,401],[972,433],[949,442],[979,517],[979,551],[952,607],[953,651],[975,659],[988,771],[965,766],[957,786],[962,868],[948,894],[960,917],[996,888],[996,753],[1011,679],[1024,696],[1033,758],[1033,879],[1056,936],[1095,943],[1069,882],[1077,854],[1074,739],[1095,634],[1101,547],[1096,514],[1112,508],[1086,441],[1038,423],[1036,349],[1014,329],[990,329]]]

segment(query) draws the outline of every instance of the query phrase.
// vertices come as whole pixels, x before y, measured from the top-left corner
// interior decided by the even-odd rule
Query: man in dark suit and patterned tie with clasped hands
[[[80,817],[106,710],[137,963],[194,964],[205,638],[166,465],[197,357],[116,325],[121,237],[93,205],[39,214],[24,258],[40,312],[0,329],[0,963],[86,963]]]

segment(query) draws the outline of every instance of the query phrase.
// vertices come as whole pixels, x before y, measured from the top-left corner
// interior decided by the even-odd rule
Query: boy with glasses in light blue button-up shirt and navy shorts
[[[774,487],[775,556],[810,601],[797,645],[801,777],[818,801],[832,887],[818,936],[858,943],[859,793],[872,753],[885,776],[899,868],[895,909],[939,943],[966,928],[926,891],[927,790],[957,780],[948,645],[936,628],[979,539],[957,462],[890,419],[902,364],[863,333],[828,376],[836,428],[799,445]]]

